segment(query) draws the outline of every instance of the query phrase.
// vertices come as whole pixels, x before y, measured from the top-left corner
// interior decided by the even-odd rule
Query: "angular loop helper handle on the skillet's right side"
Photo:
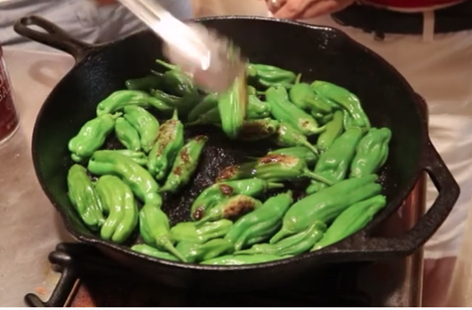
[[[460,187],[429,139],[423,163],[425,163],[424,170],[428,172],[429,178],[438,191],[436,201],[418,223],[403,235],[395,238],[364,236],[366,249],[363,250],[367,257],[372,255],[372,258],[380,258],[412,254],[436,233],[452,211],[459,198]]]

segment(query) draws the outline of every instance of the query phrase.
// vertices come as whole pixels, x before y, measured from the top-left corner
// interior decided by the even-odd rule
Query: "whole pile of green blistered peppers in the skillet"
[[[378,176],[391,131],[372,127],[355,94],[252,63],[227,92],[204,93],[180,68],[156,62],[164,73],[125,81],[68,143],[70,203],[102,239],[129,242],[139,231],[131,249],[143,255],[257,264],[339,242],[386,206]],[[191,220],[171,227],[162,195],[192,183],[209,138],[185,139],[184,126],[198,125],[274,147],[220,171],[190,206]],[[111,135],[122,148],[106,149]],[[296,201],[290,183],[306,184],[306,195]]]

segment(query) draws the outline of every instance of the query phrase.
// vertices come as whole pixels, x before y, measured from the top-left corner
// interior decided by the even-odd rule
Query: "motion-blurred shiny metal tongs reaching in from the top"
[[[204,91],[227,91],[245,74],[239,50],[228,39],[196,23],[183,23],[156,0],[119,0],[164,41],[164,55]]]

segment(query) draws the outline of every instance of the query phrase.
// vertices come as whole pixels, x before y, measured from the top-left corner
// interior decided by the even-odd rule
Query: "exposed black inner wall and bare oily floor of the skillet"
[[[412,189],[427,137],[420,107],[404,79],[378,56],[329,28],[252,18],[201,21],[233,38],[252,62],[300,72],[307,82],[320,79],[346,87],[362,100],[373,126],[390,128],[390,154],[380,172],[389,204],[376,221],[388,217]],[[147,31],[97,48],[63,78],[37,118],[33,156],[38,177],[73,234],[85,241],[99,242],[77,217],[66,194],[66,176],[72,164],[68,140],[95,116],[101,99],[124,89],[125,80],[145,76],[149,69],[162,71],[155,63],[157,58],[162,58],[160,41]],[[200,133],[211,139],[193,183],[182,195],[165,199],[164,211],[172,223],[188,219],[189,205],[221,168],[268,150],[260,143],[229,141],[214,128],[187,130],[186,136]],[[116,141],[110,139],[107,146],[116,147]]]

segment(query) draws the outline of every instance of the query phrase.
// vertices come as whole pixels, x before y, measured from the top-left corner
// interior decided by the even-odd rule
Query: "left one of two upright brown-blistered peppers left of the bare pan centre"
[[[157,133],[156,143],[148,155],[148,171],[157,180],[163,180],[184,144],[184,128],[177,110],[165,121]]]

